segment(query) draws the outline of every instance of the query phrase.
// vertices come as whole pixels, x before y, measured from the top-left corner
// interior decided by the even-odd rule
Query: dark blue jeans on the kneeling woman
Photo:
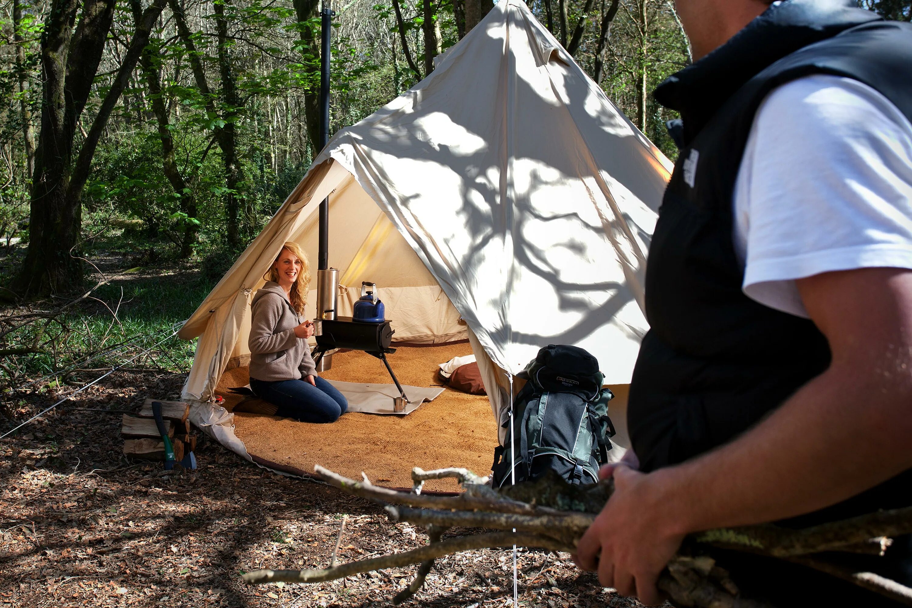
[[[265,382],[250,378],[254,395],[278,407],[276,416],[291,417],[301,422],[336,422],[345,414],[348,402],[321,377],[316,386],[306,380]]]

